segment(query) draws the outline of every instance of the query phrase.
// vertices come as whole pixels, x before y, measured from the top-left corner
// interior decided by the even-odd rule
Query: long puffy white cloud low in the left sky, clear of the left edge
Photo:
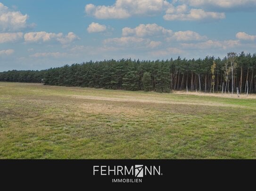
[[[71,43],[72,41],[79,39],[74,32],[69,32],[66,36],[63,33],[48,33],[45,31],[41,32],[29,32],[24,35],[25,42],[47,42],[50,40],[56,40],[61,44]]]

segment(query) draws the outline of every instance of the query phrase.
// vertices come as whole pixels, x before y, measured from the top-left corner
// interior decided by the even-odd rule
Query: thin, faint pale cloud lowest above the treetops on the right
[[[201,43],[183,43],[181,44],[183,48],[188,49],[228,49],[236,46],[240,46],[239,40],[224,40],[224,41],[214,41],[207,40]]]

